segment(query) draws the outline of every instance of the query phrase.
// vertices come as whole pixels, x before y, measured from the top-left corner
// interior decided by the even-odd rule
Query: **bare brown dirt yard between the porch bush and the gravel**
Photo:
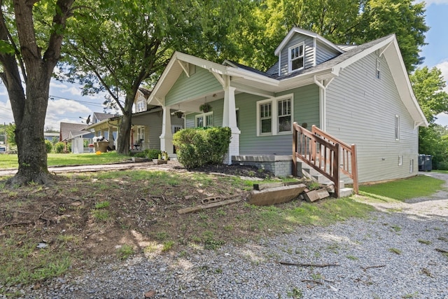
[[[56,174],[51,186],[3,189],[0,238],[14,239],[16,246],[34,242],[82,256],[74,261],[82,268],[94,260],[117,258],[124,245],[136,253],[187,244],[213,248],[224,239],[241,242],[260,233],[253,219],[244,221],[250,219],[251,207],[244,204],[250,187],[233,176],[265,179],[272,176],[269,172],[236,165],[188,171],[175,162],[151,167],[139,180],[132,172],[110,178],[106,173],[113,170],[76,172]],[[194,214],[177,212],[207,197],[241,202]],[[230,225],[235,218],[237,224]]]

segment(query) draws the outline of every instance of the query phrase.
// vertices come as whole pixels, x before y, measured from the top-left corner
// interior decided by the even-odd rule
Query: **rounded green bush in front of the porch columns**
[[[177,158],[186,168],[221,164],[227,153],[232,132],[229,127],[206,127],[176,132],[173,144]]]

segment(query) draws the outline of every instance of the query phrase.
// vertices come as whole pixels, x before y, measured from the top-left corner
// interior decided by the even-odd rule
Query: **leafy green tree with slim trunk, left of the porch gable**
[[[85,1],[64,45],[67,76],[83,84],[84,94],[106,91],[105,104],[123,113],[119,153],[129,152],[132,104],[141,84],[154,83],[175,50],[211,60],[231,53],[226,36],[242,3]]]

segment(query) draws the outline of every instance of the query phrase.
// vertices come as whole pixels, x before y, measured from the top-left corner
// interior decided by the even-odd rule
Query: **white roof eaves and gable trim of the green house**
[[[428,125],[428,121],[426,120],[423,111],[421,111],[412,90],[395,34],[384,36],[381,39],[376,39],[360,46],[346,46],[344,47],[346,51],[344,51],[318,34],[294,27],[276,49],[276,53],[286,46],[293,34],[296,33],[305,34],[318,39],[327,46],[335,48],[341,54],[314,67],[295,71],[285,76],[278,76],[271,72],[265,73],[258,71],[230,60],[226,60],[223,64],[217,64],[215,62],[203,60],[199,57],[176,52],[163,71],[162,76],[160,76],[150,97],[148,97],[148,103],[153,101],[154,104],[157,103],[163,105],[164,102],[162,99],[167,95],[167,92],[169,92],[174,83],[176,83],[176,80],[179,78],[182,71],[186,71],[186,65],[188,64],[195,64],[197,67],[207,69],[216,77],[222,75],[230,76],[232,84],[237,89],[243,88],[241,90],[244,90],[244,88],[246,88],[246,90],[255,90],[254,92],[258,92],[258,95],[273,97],[276,92],[313,84],[316,83],[316,81],[335,78],[339,76],[339,73],[344,68],[349,67],[351,64],[358,62],[375,51],[379,51],[379,55],[384,55],[386,59],[400,98],[409,111],[409,114],[414,119],[415,126]]]

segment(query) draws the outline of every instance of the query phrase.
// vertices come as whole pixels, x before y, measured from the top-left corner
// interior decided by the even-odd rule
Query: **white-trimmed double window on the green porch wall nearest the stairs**
[[[293,125],[293,96],[257,102],[257,136],[288,134]]]

